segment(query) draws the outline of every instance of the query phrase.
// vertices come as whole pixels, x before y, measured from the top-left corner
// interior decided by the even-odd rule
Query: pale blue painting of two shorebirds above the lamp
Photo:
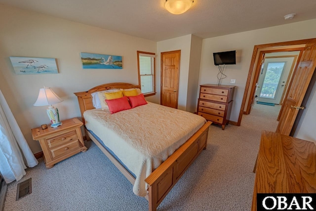
[[[58,73],[55,58],[10,56],[15,74]]]

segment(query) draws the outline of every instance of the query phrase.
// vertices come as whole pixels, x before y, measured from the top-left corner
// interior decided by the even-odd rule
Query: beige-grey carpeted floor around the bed
[[[204,150],[159,211],[246,211],[251,208],[252,173],[262,130],[275,131],[279,106],[255,104],[241,126],[211,126]],[[146,211],[148,202],[92,142],[79,153],[45,169],[27,169],[32,194],[15,201],[18,182],[8,185],[4,211]]]

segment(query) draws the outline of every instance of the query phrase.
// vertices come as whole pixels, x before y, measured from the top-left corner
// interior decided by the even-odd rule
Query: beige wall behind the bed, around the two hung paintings
[[[48,124],[46,107],[33,106],[43,85],[64,101],[61,120],[80,117],[76,96],[99,84],[138,84],[137,50],[156,52],[157,43],[0,4],[0,89],[33,153],[40,145],[31,128]],[[80,52],[120,55],[122,70],[82,69]],[[16,75],[9,56],[56,58],[59,74]]]

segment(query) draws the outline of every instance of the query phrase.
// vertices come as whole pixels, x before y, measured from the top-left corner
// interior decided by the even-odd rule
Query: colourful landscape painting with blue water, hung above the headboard
[[[83,69],[122,69],[122,57],[96,53],[80,53]]]

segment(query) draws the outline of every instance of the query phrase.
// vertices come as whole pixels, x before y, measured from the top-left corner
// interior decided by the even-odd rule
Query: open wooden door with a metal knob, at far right
[[[306,44],[282,104],[276,132],[289,135],[316,68],[316,39]]]

